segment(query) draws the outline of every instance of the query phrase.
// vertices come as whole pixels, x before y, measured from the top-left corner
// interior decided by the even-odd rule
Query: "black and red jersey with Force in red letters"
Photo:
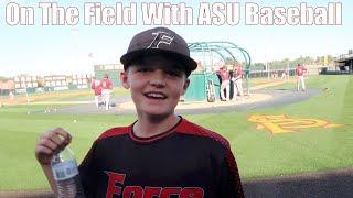
[[[181,119],[169,131],[142,139],[132,125],[113,128],[79,165],[87,197],[244,197],[227,140]]]

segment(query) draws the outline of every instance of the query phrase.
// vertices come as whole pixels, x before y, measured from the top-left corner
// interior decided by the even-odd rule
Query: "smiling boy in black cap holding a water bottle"
[[[229,143],[174,113],[196,68],[185,41],[165,28],[147,30],[132,37],[120,62],[138,120],[94,142],[79,166],[86,197],[244,197]],[[57,135],[64,140],[56,141]],[[54,191],[49,158],[69,141],[58,128],[36,145]]]

